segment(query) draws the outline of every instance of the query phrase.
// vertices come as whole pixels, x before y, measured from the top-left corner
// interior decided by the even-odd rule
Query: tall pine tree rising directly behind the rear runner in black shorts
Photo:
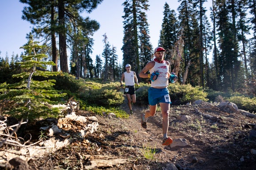
[[[151,44],[148,36],[147,15],[148,0],[125,0],[124,6],[124,38],[123,65],[131,64],[136,73],[141,65],[145,65],[151,56]],[[139,55],[143,55],[139,57]],[[142,62],[140,62],[142,59]]]

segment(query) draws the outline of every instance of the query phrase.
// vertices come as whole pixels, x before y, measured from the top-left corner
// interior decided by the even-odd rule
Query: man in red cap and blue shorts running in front
[[[157,104],[159,103],[162,110],[162,129],[163,129],[163,141],[162,145],[170,145],[172,139],[167,137],[169,127],[169,109],[170,109],[170,98],[169,90],[167,86],[169,84],[169,61],[164,60],[165,49],[157,47],[154,50],[154,61],[150,61],[139,73],[141,78],[150,78],[155,72],[158,72],[158,76],[153,76],[151,81],[151,87],[148,90],[149,110],[141,116],[141,126],[147,128],[147,118],[154,116]],[[147,72],[150,71],[150,74]]]

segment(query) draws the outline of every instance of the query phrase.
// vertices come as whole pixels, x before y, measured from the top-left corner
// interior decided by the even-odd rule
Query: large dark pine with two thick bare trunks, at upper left
[[[66,40],[73,40],[73,34],[67,33],[72,32],[72,29],[78,25],[87,25],[87,20],[84,20],[79,13],[84,10],[90,13],[102,0],[20,0],[20,2],[29,5],[24,7],[23,19],[38,25],[34,31],[37,34],[42,33],[43,37],[51,35],[53,55],[56,55],[55,33],[58,33],[60,70],[69,72]],[[55,56],[53,60],[57,63]]]

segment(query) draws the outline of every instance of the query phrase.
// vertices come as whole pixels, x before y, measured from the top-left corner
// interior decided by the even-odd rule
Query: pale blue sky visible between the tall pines
[[[123,18],[124,15],[122,6],[124,0],[103,0],[94,11],[90,14],[82,13],[83,17],[89,17],[96,20],[100,24],[94,36],[93,53],[91,57],[95,62],[96,55],[102,56],[104,49],[103,35],[106,34],[109,43],[116,47],[118,55],[118,63],[122,64],[123,54],[121,48],[123,46]],[[171,10],[177,12],[179,6],[178,0],[148,0],[149,10],[146,11],[147,22],[149,24],[150,42],[153,48],[157,47],[160,30],[163,20],[164,4],[169,4]],[[210,3],[205,5],[209,11]],[[22,47],[26,42],[26,34],[31,31],[32,25],[21,19],[22,10],[26,4],[22,4],[19,0],[0,0],[0,57],[5,58],[11,55],[24,52]],[[68,56],[70,57],[70,56]],[[102,58],[102,61],[104,59]]]

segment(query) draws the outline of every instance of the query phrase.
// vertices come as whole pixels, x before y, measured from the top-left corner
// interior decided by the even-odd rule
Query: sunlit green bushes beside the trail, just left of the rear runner
[[[79,100],[81,110],[99,115],[113,112],[117,117],[128,118],[128,114],[118,108],[124,101],[124,94],[120,92],[119,88],[120,82],[103,82],[102,79],[75,80],[73,76],[68,80],[71,80],[74,86],[79,87],[75,96]]]

